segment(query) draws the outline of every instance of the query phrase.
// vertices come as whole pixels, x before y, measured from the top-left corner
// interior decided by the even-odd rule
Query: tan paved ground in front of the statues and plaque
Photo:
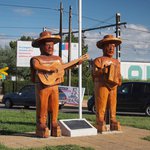
[[[37,138],[35,133],[22,135],[0,135],[0,143],[11,148],[31,148],[56,145],[76,144],[84,147],[92,147],[95,150],[149,150],[150,142],[143,137],[150,136],[149,130],[122,127],[122,133],[98,134],[84,137],[49,137]]]

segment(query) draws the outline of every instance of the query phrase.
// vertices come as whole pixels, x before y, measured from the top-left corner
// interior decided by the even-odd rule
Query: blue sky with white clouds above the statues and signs
[[[62,0],[63,31],[68,30],[69,6],[72,6],[72,28],[78,28],[78,0]],[[24,7],[23,7],[24,6]],[[38,37],[43,27],[59,31],[60,0],[0,0],[0,46],[21,36]],[[115,23],[121,14],[121,60],[149,61],[150,58],[150,0],[82,0],[82,27],[94,28]],[[102,55],[96,42],[105,34],[114,34],[115,27],[85,32],[85,42],[91,58]]]

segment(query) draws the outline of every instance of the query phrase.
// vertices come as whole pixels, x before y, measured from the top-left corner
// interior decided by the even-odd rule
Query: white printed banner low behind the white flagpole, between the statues
[[[72,86],[59,86],[61,92],[66,95],[66,104],[79,105],[79,88]],[[85,88],[82,88],[82,101]]]

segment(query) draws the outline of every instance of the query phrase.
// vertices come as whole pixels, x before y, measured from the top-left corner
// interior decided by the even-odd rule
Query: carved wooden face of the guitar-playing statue
[[[42,55],[53,55],[54,52],[54,42],[44,42],[40,46]]]

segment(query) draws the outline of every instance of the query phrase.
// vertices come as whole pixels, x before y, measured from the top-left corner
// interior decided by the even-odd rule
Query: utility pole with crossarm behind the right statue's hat
[[[120,32],[120,13],[116,13],[116,37],[120,38],[121,32]],[[121,57],[121,45],[116,47],[116,59],[120,61]]]

